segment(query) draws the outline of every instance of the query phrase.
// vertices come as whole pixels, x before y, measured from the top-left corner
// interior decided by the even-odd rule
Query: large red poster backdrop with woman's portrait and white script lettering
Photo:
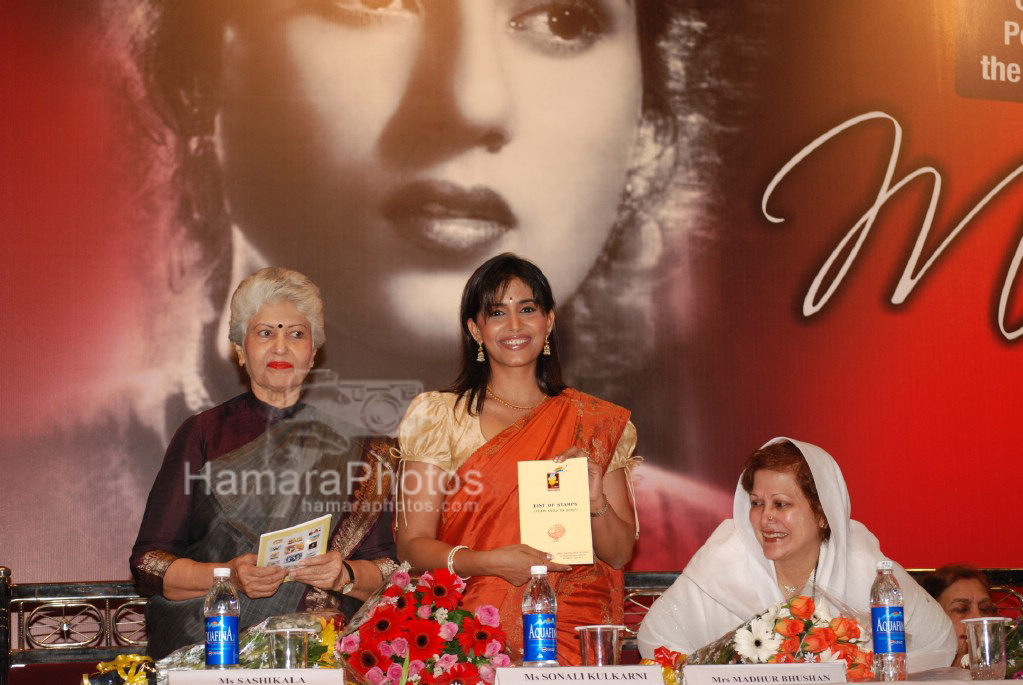
[[[321,287],[315,384],[389,430],[503,250],[633,412],[633,567],[781,435],[901,563],[1023,562],[1019,0],[166,4],[0,3],[16,581],[128,576],[170,435],[243,387],[240,277]]]

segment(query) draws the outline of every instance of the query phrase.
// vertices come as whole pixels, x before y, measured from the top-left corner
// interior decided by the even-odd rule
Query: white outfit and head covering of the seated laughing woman
[[[785,440],[790,439],[775,438],[767,444]],[[831,455],[808,443],[790,442],[810,466],[831,527],[831,538],[820,545],[816,589],[869,615],[877,562],[887,557],[881,553],[878,539],[850,518],[849,493]],[[785,601],[774,564],[764,557],[749,513],[750,496],[740,481],[732,518],[718,526],[643,619],[638,641],[644,657],[652,657],[662,645],[692,653]],[[948,616],[897,563],[895,576],[905,600],[908,672],[949,666],[957,643]],[[810,585],[808,581],[804,593],[809,594]]]

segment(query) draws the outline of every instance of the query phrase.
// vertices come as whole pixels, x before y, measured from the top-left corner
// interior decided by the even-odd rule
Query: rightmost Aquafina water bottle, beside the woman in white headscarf
[[[892,562],[878,561],[871,586],[871,623],[874,634],[874,680],[905,680],[905,611]]]

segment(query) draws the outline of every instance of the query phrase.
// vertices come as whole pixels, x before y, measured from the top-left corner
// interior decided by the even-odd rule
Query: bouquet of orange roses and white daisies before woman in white
[[[680,673],[692,664],[795,664],[843,660],[850,682],[872,680],[870,637],[846,615],[832,618],[812,597],[776,604],[687,656],[661,647],[655,663]],[[677,680],[677,678],[676,678]],[[665,680],[668,682],[668,679]]]

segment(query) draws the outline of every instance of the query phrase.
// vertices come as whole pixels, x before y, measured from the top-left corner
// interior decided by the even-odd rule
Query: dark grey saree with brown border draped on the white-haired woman
[[[255,552],[260,535],[331,513],[328,550],[348,558],[387,510],[394,483],[390,441],[363,436],[354,426],[327,422],[311,408],[281,420],[244,446],[207,462],[191,502],[191,515],[205,535],[184,556],[225,562]],[[352,477],[355,485],[346,483]],[[347,491],[347,492],[346,492]],[[155,594],[146,605],[148,653],[162,658],[202,641],[204,597],[169,600]],[[272,615],[342,607],[339,593],[302,583],[283,583],[272,597],[239,593],[243,630]],[[352,607],[354,608],[354,607]]]

